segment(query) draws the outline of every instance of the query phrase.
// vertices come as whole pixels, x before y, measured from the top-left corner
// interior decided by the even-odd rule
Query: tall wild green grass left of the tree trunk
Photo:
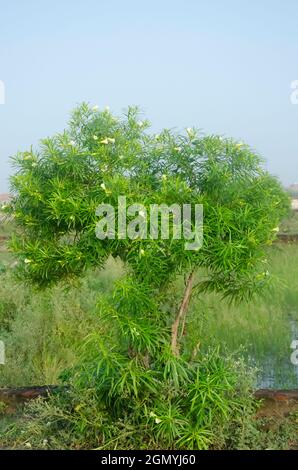
[[[57,383],[76,364],[86,335],[101,328],[98,294],[111,288],[121,267],[109,262],[106,270],[89,273],[69,289],[57,286],[46,292],[14,281],[9,271],[2,274],[0,338],[6,364],[0,366],[0,386]]]

